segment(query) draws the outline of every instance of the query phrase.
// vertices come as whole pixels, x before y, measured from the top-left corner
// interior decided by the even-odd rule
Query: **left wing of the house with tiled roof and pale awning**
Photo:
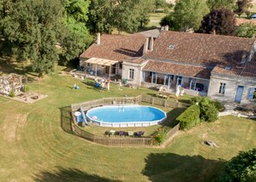
[[[143,55],[146,37],[140,33],[127,35],[97,34],[92,44],[80,59],[80,66],[95,70],[97,75],[122,76],[122,60]]]

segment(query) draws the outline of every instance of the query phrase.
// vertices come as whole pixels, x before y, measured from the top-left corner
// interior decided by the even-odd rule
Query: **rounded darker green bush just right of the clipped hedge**
[[[212,100],[207,97],[203,97],[203,100],[199,103],[200,106],[200,118],[206,122],[214,122],[218,119],[218,110]]]

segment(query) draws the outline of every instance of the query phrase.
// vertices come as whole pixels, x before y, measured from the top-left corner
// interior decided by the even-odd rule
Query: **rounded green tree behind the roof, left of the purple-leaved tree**
[[[197,30],[209,8],[202,0],[179,0],[174,6],[173,18],[180,30]]]

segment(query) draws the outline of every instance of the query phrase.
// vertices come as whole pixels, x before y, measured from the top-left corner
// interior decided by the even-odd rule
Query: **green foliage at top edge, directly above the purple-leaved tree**
[[[235,0],[207,0],[206,3],[212,9],[234,9]]]

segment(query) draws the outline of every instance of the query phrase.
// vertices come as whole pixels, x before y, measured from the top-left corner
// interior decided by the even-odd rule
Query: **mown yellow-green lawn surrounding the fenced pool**
[[[74,82],[80,89],[71,89]],[[224,117],[180,132],[165,149],[109,148],[63,131],[59,109],[102,97],[153,94],[111,84],[110,93],[53,74],[29,84],[47,94],[33,104],[0,97],[2,181],[210,181],[240,150],[255,148],[256,122]],[[218,149],[204,146],[214,140]]]

